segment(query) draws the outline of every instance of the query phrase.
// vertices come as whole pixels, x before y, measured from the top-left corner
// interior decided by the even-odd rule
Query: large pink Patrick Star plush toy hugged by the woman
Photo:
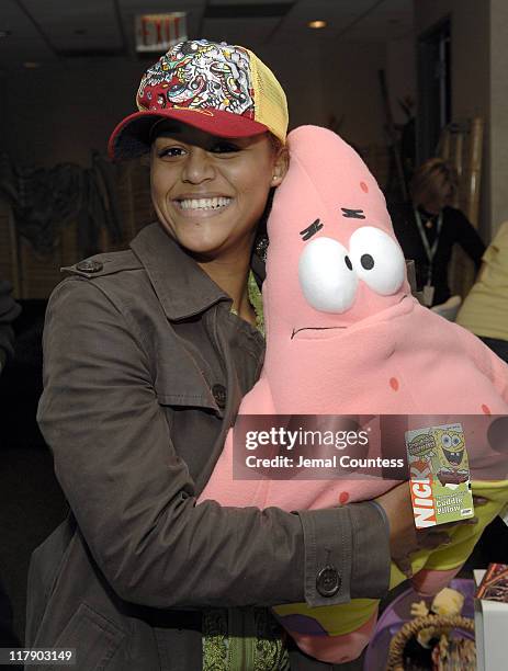
[[[411,296],[385,200],[361,158],[314,126],[293,130],[289,150],[268,224],[267,354],[240,414],[507,414],[508,366]],[[234,480],[232,464],[229,432],[201,500],[298,510],[372,499],[393,486],[346,476]],[[470,465],[473,489],[488,503],[477,508],[477,524],[452,532],[450,546],[415,555],[414,580],[424,593],[447,584],[508,501],[501,452],[485,441],[470,452]],[[496,479],[482,477],[486,466]],[[392,585],[403,579],[393,566]],[[376,602],[290,604],[275,613],[302,649],[338,663],[369,641]]]

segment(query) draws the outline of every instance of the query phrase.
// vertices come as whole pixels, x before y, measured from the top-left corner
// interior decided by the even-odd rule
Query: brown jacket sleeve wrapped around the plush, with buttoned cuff
[[[369,503],[298,514],[195,505],[143,339],[128,310],[97,283],[69,278],[54,292],[38,421],[78,525],[113,589],[156,607],[332,605],[382,596],[388,535]]]

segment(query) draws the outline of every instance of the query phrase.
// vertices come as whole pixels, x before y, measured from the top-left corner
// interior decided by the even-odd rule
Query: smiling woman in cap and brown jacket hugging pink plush
[[[261,606],[380,596],[390,554],[445,534],[417,537],[407,486],[294,514],[195,505],[261,365],[250,268],[286,170],[285,96],[247,49],[194,41],[137,102],[110,147],[150,152],[159,220],[68,269],[48,305],[38,420],[71,512],[32,559],[26,645],[76,647],[80,671],[281,669]]]

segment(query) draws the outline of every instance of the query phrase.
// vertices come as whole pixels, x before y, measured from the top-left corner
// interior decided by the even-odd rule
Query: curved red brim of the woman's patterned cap
[[[264,124],[223,110],[170,107],[135,112],[120,122],[111,134],[108,143],[110,158],[118,161],[146,153],[150,148],[151,127],[162,118],[173,118],[218,137],[250,137],[268,130]]]

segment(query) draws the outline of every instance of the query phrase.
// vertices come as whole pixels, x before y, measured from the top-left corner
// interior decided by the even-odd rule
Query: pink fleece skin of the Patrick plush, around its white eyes
[[[359,281],[353,304],[342,314],[308,304],[298,278],[306,246],[326,237],[348,250],[351,236],[364,226],[395,237],[374,178],[338,135],[302,126],[290,134],[289,149],[290,170],[268,223],[266,361],[239,413],[426,414],[429,425],[432,414],[450,413],[451,421],[456,413],[506,414],[508,366],[475,336],[420,306],[407,278],[391,295]],[[365,218],[345,217],[341,208],[361,209]],[[323,228],[303,241],[300,231],[316,219]],[[472,465],[488,466],[495,458],[470,452]],[[232,464],[229,432],[200,500],[312,509],[337,505],[346,496],[349,502],[371,499],[393,486],[379,478],[233,480]]]

